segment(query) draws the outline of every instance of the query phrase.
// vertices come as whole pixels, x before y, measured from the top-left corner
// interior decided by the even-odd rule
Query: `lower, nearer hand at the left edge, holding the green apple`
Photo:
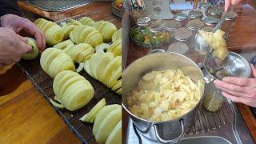
[[[7,28],[0,27],[0,66],[18,62],[22,55],[30,52],[32,47],[24,38]]]

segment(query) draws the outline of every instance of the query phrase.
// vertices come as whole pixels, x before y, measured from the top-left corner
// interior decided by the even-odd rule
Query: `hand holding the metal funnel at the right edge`
[[[253,65],[250,66],[253,78],[226,77],[222,81],[215,80],[214,84],[231,101],[256,107],[256,69]]]

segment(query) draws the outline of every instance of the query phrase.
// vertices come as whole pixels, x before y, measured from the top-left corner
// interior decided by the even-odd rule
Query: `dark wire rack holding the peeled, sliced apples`
[[[90,14],[80,14],[72,18],[79,19],[83,16],[90,16]],[[57,23],[66,22],[67,19],[68,18],[63,19],[62,21],[58,21]],[[114,19],[106,20],[114,22]],[[54,90],[52,88],[53,79],[50,78],[42,70],[39,61],[40,56],[31,61],[22,60],[18,63],[18,66],[22,70],[22,72],[26,74],[26,77],[30,79],[33,85],[40,91],[42,96],[46,98],[48,102],[50,102],[49,99],[54,98]],[[51,103],[50,105],[54,107],[54,110],[57,112],[57,114],[61,116],[66,125],[82,141],[82,143],[97,143],[92,132],[93,123],[82,122],[79,120],[79,118],[81,118],[84,114],[88,113],[102,98],[106,99],[106,105],[114,103],[121,104],[122,96],[114,93],[114,91],[110,90],[107,86],[102,84],[102,82],[91,78],[90,75],[86,74],[85,70],[82,70],[79,74],[86,78],[94,87],[94,98],[92,98],[86,106],[83,106],[81,109],[75,110],[73,112],[69,110],[60,110],[57,107],[51,105]]]

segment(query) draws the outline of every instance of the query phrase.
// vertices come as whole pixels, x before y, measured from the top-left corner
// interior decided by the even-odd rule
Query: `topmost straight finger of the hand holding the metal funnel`
[[[223,82],[238,85],[238,86],[250,86],[252,79],[250,78],[238,78],[238,77],[225,77]]]

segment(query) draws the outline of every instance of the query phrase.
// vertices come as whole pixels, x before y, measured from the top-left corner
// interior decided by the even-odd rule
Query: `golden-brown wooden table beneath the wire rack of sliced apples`
[[[38,15],[46,14],[31,6],[19,2],[22,9],[31,10]],[[68,10],[58,15],[43,15],[49,19],[59,20],[85,12],[95,12],[92,17],[113,19],[121,27],[121,18],[111,14],[110,2],[93,3]],[[31,9],[30,9],[31,8]],[[63,16],[64,15],[64,16]],[[112,21],[112,22],[113,22]],[[1,72],[0,72],[1,74]],[[49,102],[31,84],[18,66],[14,65],[5,74],[0,75],[0,143],[80,143],[66,124],[56,114]]]

